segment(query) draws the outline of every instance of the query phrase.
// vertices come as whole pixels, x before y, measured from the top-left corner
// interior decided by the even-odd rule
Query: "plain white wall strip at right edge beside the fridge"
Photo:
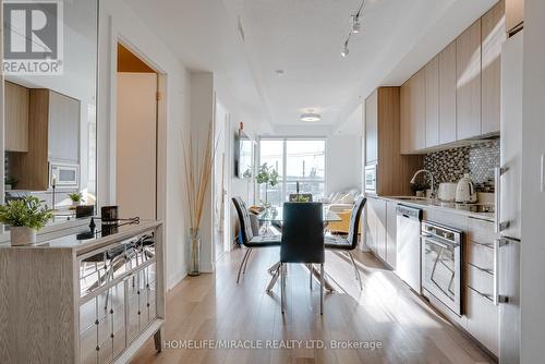
[[[545,1],[524,1],[522,122],[521,363],[543,363],[545,337],[545,193],[540,190],[545,154]]]

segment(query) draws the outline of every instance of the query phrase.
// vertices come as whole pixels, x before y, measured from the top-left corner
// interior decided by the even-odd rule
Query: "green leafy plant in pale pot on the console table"
[[[35,196],[25,196],[0,206],[0,222],[11,227],[11,245],[36,242],[36,231],[44,228],[52,213]]]

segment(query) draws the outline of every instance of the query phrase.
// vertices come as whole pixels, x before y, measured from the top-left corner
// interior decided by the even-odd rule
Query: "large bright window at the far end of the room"
[[[326,184],[326,141],[307,138],[264,138],[259,142],[259,166],[267,163],[279,174],[278,185],[258,186],[258,198],[280,206],[290,193],[324,197]]]

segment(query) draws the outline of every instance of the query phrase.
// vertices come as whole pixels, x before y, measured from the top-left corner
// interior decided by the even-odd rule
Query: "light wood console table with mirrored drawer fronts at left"
[[[165,320],[162,225],[0,245],[0,363],[125,363]]]

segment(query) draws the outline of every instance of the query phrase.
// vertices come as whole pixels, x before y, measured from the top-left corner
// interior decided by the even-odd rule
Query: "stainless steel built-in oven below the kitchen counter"
[[[422,290],[462,315],[463,232],[422,221]]]

